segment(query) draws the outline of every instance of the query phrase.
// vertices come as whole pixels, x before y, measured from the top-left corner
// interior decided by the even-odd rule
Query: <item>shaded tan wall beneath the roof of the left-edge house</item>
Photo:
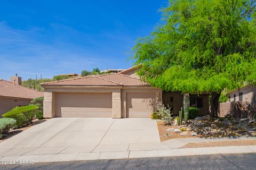
[[[32,99],[0,96],[0,116],[14,107],[29,105],[31,100]]]

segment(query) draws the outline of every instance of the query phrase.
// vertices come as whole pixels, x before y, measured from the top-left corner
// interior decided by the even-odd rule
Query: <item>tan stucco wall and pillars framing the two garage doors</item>
[[[44,117],[55,117],[55,94],[58,92],[111,92],[112,93],[112,117],[126,117],[126,93],[150,92],[155,93],[156,109],[162,104],[162,90],[151,87],[44,87]]]

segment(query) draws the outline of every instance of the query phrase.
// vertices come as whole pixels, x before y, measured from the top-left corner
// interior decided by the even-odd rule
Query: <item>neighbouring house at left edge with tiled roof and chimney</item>
[[[17,74],[10,81],[0,79],[0,116],[13,107],[28,105],[34,98],[42,96],[43,92],[21,86],[21,78]]]

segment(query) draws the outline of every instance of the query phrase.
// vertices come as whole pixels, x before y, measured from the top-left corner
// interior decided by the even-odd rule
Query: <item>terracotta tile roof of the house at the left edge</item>
[[[34,99],[44,96],[44,93],[0,79],[0,96]]]

